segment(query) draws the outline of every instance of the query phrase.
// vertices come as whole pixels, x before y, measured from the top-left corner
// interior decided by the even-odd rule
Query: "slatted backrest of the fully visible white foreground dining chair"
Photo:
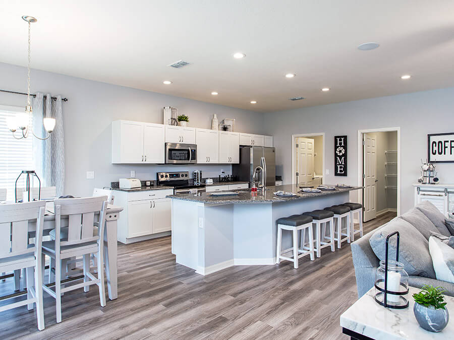
[[[94,215],[99,212],[100,216],[105,216],[106,200],[107,196],[55,199],[55,219],[61,221],[62,216],[68,216],[69,221],[68,240],[64,241],[60,240],[61,224],[55,224],[55,241],[60,242],[55,250],[60,246],[97,241],[99,235],[93,236]]]

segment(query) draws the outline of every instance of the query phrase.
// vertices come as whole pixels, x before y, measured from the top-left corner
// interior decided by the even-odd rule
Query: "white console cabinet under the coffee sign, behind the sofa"
[[[415,206],[428,200],[444,215],[454,212],[454,184],[413,184]]]

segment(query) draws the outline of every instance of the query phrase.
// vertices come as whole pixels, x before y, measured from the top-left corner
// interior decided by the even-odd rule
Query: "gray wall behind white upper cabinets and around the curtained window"
[[[112,70],[115,72],[115,70]],[[0,63],[0,89],[26,92],[26,69]],[[193,127],[210,128],[213,113],[218,119],[236,118],[236,130],[263,133],[263,114],[159,93],[136,90],[32,70],[32,92],[49,92],[68,97],[63,104],[65,131],[65,193],[89,195],[94,187],[129,177],[136,171],[140,179],[155,179],[157,171],[201,169],[203,176],[217,176],[221,169],[231,173],[230,165],[163,166],[117,165],[110,163],[111,121],[128,119],[162,123],[162,107],[174,106],[189,115]],[[0,92],[0,104],[25,106],[25,96]],[[39,143],[39,142],[37,142]],[[86,179],[94,171],[94,179]]]

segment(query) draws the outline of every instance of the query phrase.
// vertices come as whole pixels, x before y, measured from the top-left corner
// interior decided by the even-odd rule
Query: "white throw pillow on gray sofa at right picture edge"
[[[429,252],[437,280],[454,283],[454,249],[431,236]]]

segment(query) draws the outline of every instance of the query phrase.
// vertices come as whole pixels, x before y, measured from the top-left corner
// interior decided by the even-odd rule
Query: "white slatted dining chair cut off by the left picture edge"
[[[27,305],[28,310],[36,304],[38,329],[44,329],[42,303],[42,229],[45,201],[0,205],[0,271],[26,268],[27,299],[0,307],[0,312]],[[36,219],[35,244],[28,242],[29,220]],[[4,297],[10,299],[16,294]]]

